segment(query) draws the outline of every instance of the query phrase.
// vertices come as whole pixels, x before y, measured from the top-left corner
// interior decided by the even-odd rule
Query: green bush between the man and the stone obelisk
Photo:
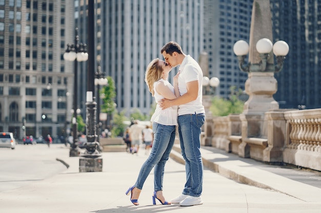
[[[226,116],[229,114],[240,114],[243,112],[244,102],[238,97],[242,94],[242,90],[235,91],[235,86],[231,87],[231,95],[229,99],[214,97],[210,111],[214,116]]]

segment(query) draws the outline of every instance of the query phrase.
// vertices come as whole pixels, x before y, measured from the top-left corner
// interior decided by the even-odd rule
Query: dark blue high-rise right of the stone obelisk
[[[274,99],[280,108],[321,107],[321,1],[270,0],[273,39],[289,44]]]

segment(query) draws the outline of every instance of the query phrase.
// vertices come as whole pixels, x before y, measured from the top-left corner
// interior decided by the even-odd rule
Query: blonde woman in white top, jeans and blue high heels
[[[152,60],[147,66],[145,73],[145,81],[149,91],[156,101],[156,109],[151,117],[153,124],[153,146],[147,160],[139,171],[136,183],[128,189],[127,195],[131,195],[130,201],[134,205],[138,205],[138,198],[141,194],[144,182],[151,170],[154,168],[154,192],[152,195],[153,204],[157,199],[163,205],[171,204],[166,201],[163,196],[163,178],[165,163],[169,158],[169,154],[173,148],[175,140],[175,127],[177,125],[177,107],[162,110],[158,101],[167,98],[175,99],[178,94],[177,76],[174,77],[174,87],[168,82],[168,74],[172,67],[165,61],[158,58]]]

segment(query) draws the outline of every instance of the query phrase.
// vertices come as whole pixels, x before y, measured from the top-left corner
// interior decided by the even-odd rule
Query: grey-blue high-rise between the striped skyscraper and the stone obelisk
[[[248,74],[240,71],[233,45],[249,42],[253,0],[204,0],[204,51],[208,54],[208,77],[219,79],[215,93],[229,98],[231,86],[245,88]]]

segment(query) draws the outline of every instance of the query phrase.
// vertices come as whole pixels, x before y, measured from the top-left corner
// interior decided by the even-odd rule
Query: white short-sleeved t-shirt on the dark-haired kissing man
[[[202,104],[203,96],[203,72],[198,63],[190,56],[187,55],[182,64],[179,66],[180,74],[178,76],[178,89],[180,96],[183,96],[187,92],[186,83],[191,81],[198,81],[198,95],[197,99],[187,104],[178,106],[178,115],[183,114],[199,114],[205,113],[204,106]]]

